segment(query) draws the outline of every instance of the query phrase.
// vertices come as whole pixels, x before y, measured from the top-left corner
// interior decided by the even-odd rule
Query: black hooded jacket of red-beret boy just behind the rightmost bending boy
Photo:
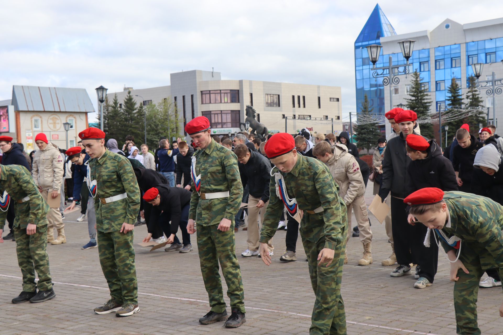
[[[437,187],[443,191],[458,190],[451,161],[442,156],[442,150],[435,140],[429,140],[428,143],[428,156],[411,161],[407,167],[407,195],[425,187]]]

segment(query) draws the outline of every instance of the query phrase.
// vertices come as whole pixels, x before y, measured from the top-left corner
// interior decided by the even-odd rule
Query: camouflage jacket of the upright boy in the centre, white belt
[[[201,199],[192,183],[189,218],[198,225],[210,226],[222,218],[234,221],[243,197],[243,185],[237,166],[237,156],[227,148],[211,140],[204,150],[197,150],[196,176],[201,174],[201,193],[229,191],[229,197]]]

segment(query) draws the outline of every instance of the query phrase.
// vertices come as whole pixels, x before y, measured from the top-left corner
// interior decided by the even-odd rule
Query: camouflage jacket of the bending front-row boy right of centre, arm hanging
[[[336,249],[346,238],[347,222],[343,222],[342,219],[346,204],[339,197],[338,187],[325,164],[314,158],[302,155],[297,155],[297,157],[297,163],[292,171],[280,173],[285,179],[288,196],[297,199],[298,207],[304,210],[304,217],[300,222],[300,234],[303,239],[312,242],[324,237],[325,248]],[[273,173],[278,171],[278,168],[273,169]],[[283,200],[276,194],[274,177],[271,178],[270,193],[271,199],[260,236],[261,243],[267,243],[273,238],[284,206]],[[319,206],[323,207],[320,213],[305,212]]]

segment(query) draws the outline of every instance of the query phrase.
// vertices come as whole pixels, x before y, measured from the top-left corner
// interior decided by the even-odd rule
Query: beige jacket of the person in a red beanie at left
[[[42,189],[61,190],[63,181],[64,157],[58,147],[49,143],[44,150],[35,151],[33,155],[33,179]]]

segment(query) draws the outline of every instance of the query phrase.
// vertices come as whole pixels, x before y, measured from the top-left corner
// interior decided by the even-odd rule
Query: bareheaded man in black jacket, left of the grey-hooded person
[[[454,166],[454,172],[456,172],[456,181],[460,191],[471,193],[473,161],[475,160],[477,151],[484,145],[477,141],[464,128],[458,129],[456,139],[458,140],[458,145],[454,147],[452,157],[452,165]]]

